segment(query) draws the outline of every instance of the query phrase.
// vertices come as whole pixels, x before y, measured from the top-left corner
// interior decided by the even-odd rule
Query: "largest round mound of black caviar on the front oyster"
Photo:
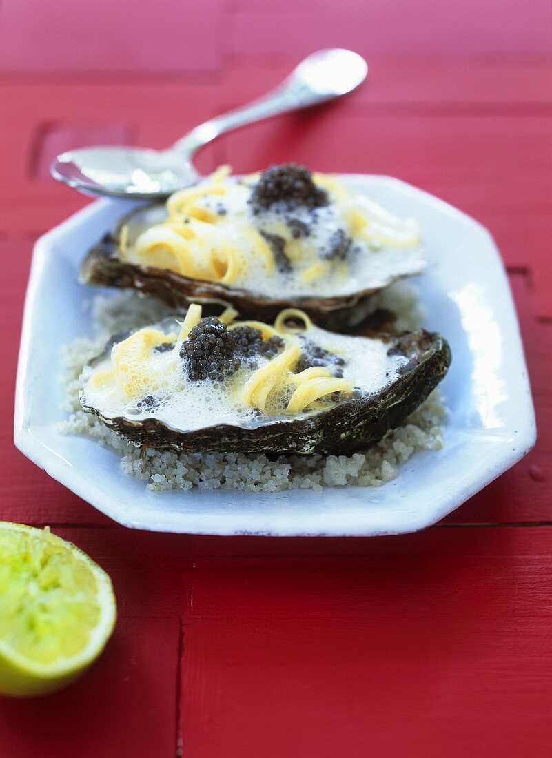
[[[240,368],[240,359],[234,352],[234,337],[227,325],[209,316],[190,329],[180,348],[180,358],[184,359],[184,370],[191,381],[217,381]]]

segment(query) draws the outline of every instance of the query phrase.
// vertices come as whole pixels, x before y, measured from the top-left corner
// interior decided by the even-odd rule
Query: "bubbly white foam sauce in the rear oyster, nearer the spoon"
[[[372,287],[384,287],[396,277],[416,274],[424,268],[423,250],[420,245],[382,246],[353,237],[353,252],[348,258],[347,265],[338,261],[331,262],[325,274],[314,280],[303,281],[300,275],[319,260],[318,252],[328,249],[332,236],[340,230],[349,235],[344,220],[347,208],[356,207],[362,212],[367,210],[363,196],[350,193],[345,201],[338,201],[331,197],[331,204],[316,208],[314,214],[306,208],[296,208],[287,214],[268,210],[255,215],[248,203],[249,186],[238,183],[234,179],[226,180],[224,186],[227,192],[223,196],[205,196],[198,199],[196,204],[215,212],[218,212],[222,206],[226,211],[215,225],[214,240],[217,240],[217,244],[222,247],[224,247],[224,242],[234,246],[246,262],[243,272],[231,283],[231,287],[240,287],[269,297],[277,297],[282,292],[290,296],[347,295]],[[160,218],[162,212],[155,210],[152,223],[162,220]],[[240,231],[240,227],[255,227],[257,230],[278,234],[282,231],[282,223],[286,215],[309,224],[311,232],[309,236],[293,240],[293,243],[301,243],[303,255],[293,260],[290,273],[278,271],[277,267],[269,273],[262,256],[255,251],[251,240]],[[133,256],[132,245],[137,232],[143,230],[142,224],[139,230],[136,228],[130,230],[127,257],[138,264],[140,264],[140,258]]]

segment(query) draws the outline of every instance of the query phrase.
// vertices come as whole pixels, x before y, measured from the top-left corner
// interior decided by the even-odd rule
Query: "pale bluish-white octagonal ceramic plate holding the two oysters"
[[[388,177],[347,183],[397,215],[418,218],[428,269],[419,277],[425,326],[449,340],[453,362],[441,385],[450,408],[444,449],[417,453],[383,487],[187,490],[151,493],[124,475],[115,453],[58,434],[64,417],[61,346],[89,334],[77,281],[86,249],[128,210],[94,202],[36,243],[21,337],[14,439],[36,465],[123,525],[189,534],[377,535],[416,531],[510,468],[535,443],[535,416],[516,313],[491,235],[476,221]]]

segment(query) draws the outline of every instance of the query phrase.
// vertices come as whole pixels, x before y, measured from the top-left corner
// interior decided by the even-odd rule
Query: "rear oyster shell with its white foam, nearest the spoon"
[[[319,193],[325,192],[321,187],[326,184],[330,187],[337,184],[331,180],[332,184],[323,175],[314,176],[320,183]],[[228,282],[227,277],[209,280],[209,274],[184,275],[181,270],[158,265],[158,260],[152,258],[146,265],[143,258],[133,255],[133,246],[136,240],[143,238],[146,230],[151,232],[152,227],[158,228],[158,224],[167,218],[164,205],[149,205],[121,219],[89,251],[81,267],[81,281],[108,287],[134,287],[140,293],[155,296],[178,309],[186,308],[190,302],[202,302],[212,305],[211,312],[215,313],[217,309],[233,305],[245,318],[264,321],[271,321],[282,309],[300,308],[321,326],[346,330],[361,323],[369,314],[375,292],[400,278],[419,274],[425,267],[422,248],[416,242],[415,222],[400,221],[363,196],[349,193],[342,202],[336,194],[345,192],[340,185],[334,194],[328,190],[326,205],[311,208],[298,201],[299,204],[290,210],[290,204],[286,205],[284,201],[274,202],[266,208],[252,205],[255,187],[260,183],[256,183],[255,178],[249,183],[230,179],[224,179],[224,182],[217,185],[226,193],[220,202],[207,193],[212,186],[205,184],[207,194],[199,198],[191,211],[187,206],[187,212],[215,219],[213,224],[224,233],[227,231],[238,249],[247,237],[236,238],[231,225],[240,227],[242,224],[245,228],[246,223],[246,233],[249,237],[251,233],[255,235],[253,247],[268,249],[274,259],[271,271],[256,270],[253,266],[247,275]],[[172,207],[175,207],[174,197]],[[188,229],[193,224],[203,223],[193,216],[173,215],[171,218],[183,219]],[[351,231],[355,224],[362,227],[364,222],[359,222],[359,218],[369,218],[369,227],[380,232],[395,224],[393,233],[403,241],[397,245],[381,243],[378,240],[386,239],[381,233],[367,241],[367,232]],[[343,219],[348,219],[347,223]],[[410,242],[404,243],[409,235]],[[211,248],[224,249],[227,240],[224,234],[213,237],[213,240],[209,242]],[[306,271],[306,263],[301,262],[303,253],[296,251],[306,249],[307,245],[311,255],[312,249],[317,251],[317,263],[324,273],[312,283],[309,280],[303,284],[301,277],[307,276],[309,271]],[[295,251],[293,260],[288,255],[290,249]],[[199,259],[196,248],[190,249],[190,253],[193,259]],[[312,268],[315,265],[311,262]]]

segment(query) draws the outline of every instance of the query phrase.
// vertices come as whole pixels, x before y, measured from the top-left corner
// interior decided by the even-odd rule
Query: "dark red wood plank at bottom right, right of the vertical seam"
[[[365,551],[363,567],[193,573],[184,754],[547,755],[552,531]]]

